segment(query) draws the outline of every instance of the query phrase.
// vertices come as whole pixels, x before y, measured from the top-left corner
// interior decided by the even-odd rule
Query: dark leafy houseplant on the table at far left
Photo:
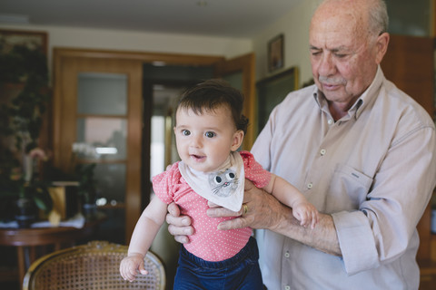
[[[45,53],[25,44],[6,49],[0,42],[0,198],[3,205],[16,202],[18,216],[26,216],[20,225],[24,227],[35,216],[35,207],[45,212],[53,207],[47,185],[36,170],[36,162],[46,158],[37,146],[49,100],[47,72]]]

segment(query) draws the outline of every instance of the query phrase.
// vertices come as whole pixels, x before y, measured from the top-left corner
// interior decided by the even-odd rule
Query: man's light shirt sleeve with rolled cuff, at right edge
[[[332,213],[348,275],[388,264],[413,244],[434,188],[434,144],[431,127],[394,142],[360,210]]]

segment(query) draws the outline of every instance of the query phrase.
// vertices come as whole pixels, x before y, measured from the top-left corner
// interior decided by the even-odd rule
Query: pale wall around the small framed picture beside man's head
[[[256,80],[296,66],[300,72],[300,86],[312,78],[309,60],[309,25],[312,13],[319,0],[304,0],[294,5],[292,10],[253,38],[256,53]],[[284,66],[281,70],[269,73],[267,64],[268,42],[278,34],[284,34]]]

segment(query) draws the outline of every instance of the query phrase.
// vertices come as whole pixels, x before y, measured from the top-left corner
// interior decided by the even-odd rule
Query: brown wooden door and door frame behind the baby
[[[212,66],[217,76],[224,78],[233,73],[240,73],[240,89],[245,95],[244,113],[253,123],[256,118],[253,53],[225,61],[222,56],[208,55],[54,49],[54,166],[60,169],[68,169],[71,166],[72,144],[77,140],[78,119],[94,117],[92,114],[77,113],[78,74],[114,73],[123,74],[128,79],[128,110],[123,116],[128,124],[126,128],[128,154],[124,160],[109,161],[109,163],[125,164],[126,167],[124,203],[116,205],[117,208],[123,208],[125,211],[125,243],[129,242],[134,225],[150,198],[149,180],[143,180],[141,184],[141,178],[149,176],[150,172],[149,168],[141,166],[142,159],[150,160],[150,148],[143,148],[141,140],[144,139],[144,144],[150,142],[150,124],[143,120],[146,120],[146,115],[150,114],[151,110],[147,106],[147,100],[144,100],[142,66],[144,63],[154,62],[169,65]],[[99,117],[110,120],[120,116]],[[249,150],[253,144],[254,130],[255,126],[249,128],[244,149]],[[108,161],[101,161],[101,163],[106,164]],[[145,174],[147,172],[148,174]]]

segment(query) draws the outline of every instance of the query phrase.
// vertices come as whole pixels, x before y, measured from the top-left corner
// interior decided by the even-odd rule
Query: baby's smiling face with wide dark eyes
[[[232,113],[226,107],[195,114],[179,109],[175,115],[175,140],[180,158],[192,169],[211,172],[218,169],[243,140]]]

